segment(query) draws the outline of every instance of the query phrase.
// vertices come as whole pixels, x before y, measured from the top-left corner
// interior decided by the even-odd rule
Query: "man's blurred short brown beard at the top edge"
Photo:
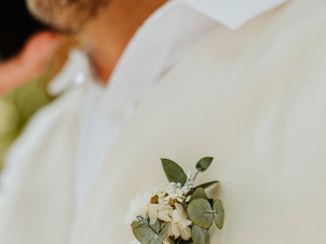
[[[110,0],[25,0],[32,15],[63,34],[77,34]]]

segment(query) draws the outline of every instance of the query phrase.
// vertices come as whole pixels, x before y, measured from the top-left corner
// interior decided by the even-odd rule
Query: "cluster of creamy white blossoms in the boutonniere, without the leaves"
[[[130,212],[125,216],[125,223],[132,224],[137,221],[137,216],[146,217],[147,213],[150,218],[150,224],[154,224],[157,219],[161,223],[170,222],[172,228],[170,233],[164,240],[164,244],[169,244],[169,236],[187,240],[191,238],[192,224],[187,219],[182,203],[185,196],[181,184],[170,182],[169,185],[164,184],[156,187],[153,191],[149,191],[144,195],[138,194],[136,198],[130,202]]]

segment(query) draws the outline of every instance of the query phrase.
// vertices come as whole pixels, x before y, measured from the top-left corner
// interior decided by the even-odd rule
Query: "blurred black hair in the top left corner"
[[[19,53],[28,38],[42,29],[24,0],[0,0],[0,61]]]

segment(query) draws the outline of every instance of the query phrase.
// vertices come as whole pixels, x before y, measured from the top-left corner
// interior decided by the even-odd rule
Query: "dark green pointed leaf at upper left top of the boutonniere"
[[[187,180],[187,176],[183,169],[175,162],[169,159],[161,159],[164,172],[167,175],[170,182],[180,182],[183,186]]]

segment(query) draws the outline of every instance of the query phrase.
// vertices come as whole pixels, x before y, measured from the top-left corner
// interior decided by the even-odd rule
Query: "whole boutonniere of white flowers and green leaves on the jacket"
[[[215,223],[222,229],[224,209],[221,200],[208,198],[205,188],[218,184],[211,181],[194,187],[199,172],[204,172],[213,158],[203,158],[197,173],[184,173],[168,159],[161,159],[169,182],[149,190],[130,202],[125,223],[142,244],[209,244],[208,229]]]

